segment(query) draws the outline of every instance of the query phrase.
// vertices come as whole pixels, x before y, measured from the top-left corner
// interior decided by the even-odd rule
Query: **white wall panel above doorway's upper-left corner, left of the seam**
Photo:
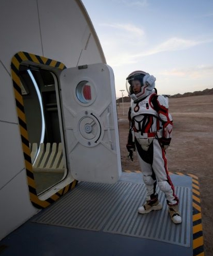
[[[10,72],[13,55],[24,50],[42,55],[42,43],[35,0],[0,2],[0,60]]]

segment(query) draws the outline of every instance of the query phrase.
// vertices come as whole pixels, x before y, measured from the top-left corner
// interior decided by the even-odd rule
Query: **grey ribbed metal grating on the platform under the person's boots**
[[[102,184],[80,182],[63,196],[36,215],[32,221],[68,228],[128,235],[190,247],[191,190],[176,186],[180,198],[182,224],[170,220],[164,194],[159,191],[163,204],[161,211],[138,214],[145,200],[144,184],[117,182]]]

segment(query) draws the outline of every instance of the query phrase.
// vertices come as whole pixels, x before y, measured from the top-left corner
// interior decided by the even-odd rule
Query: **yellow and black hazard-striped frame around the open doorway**
[[[59,199],[62,195],[67,193],[70,189],[72,189],[78,183],[78,181],[74,180],[73,182],[65,186],[60,191],[57,191],[57,193],[55,193],[54,195],[52,195],[46,200],[40,200],[37,196],[34,175],[32,171],[32,162],[31,162],[31,156],[30,156],[27,124],[26,124],[26,117],[25,117],[25,111],[24,111],[24,102],[23,102],[22,91],[21,91],[21,81],[18,75],[20,64],[26,61],[30,61],[34,64],[41,64],[45,66],[55,67],[60,70],[66,69],[66,66],[59,61],[55,61],[52,59],[45,58],[43,56],[38,56],[38,55],[26,53],[26,52],[18,52],[13,56],[11,61],[13,89],[14,89],[14,95],[15,95],[18,123],[20,126],[20,134],[22,139],[22,148],[23,148],[23,154],[25,159],[25,167],[26,167],[26,173],[27,173],[30,200],[35,207],[45,208],[49,206],[52,202]]]

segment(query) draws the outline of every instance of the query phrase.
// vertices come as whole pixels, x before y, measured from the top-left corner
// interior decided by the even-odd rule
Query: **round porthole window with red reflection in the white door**
[[[95,99],[94,87],[88,81],[81,81],[76,87],[76,97],[83,103],[90,105]]]

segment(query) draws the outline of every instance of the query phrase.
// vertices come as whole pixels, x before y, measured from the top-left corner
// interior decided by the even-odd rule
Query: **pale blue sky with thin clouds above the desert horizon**
[[[213,88],[212,0],[82,0],[114,72],[117,97],[136,70],[158,94]]]

